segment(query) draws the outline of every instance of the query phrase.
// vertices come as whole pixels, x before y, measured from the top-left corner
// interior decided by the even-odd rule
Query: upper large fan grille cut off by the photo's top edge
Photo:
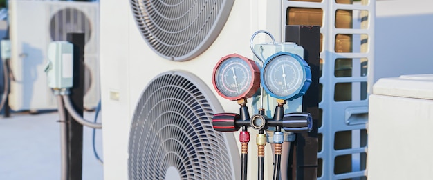
[[[227,21],[233,0],[130,0],[138,30],[160,56],[192,59],[206,50]]]

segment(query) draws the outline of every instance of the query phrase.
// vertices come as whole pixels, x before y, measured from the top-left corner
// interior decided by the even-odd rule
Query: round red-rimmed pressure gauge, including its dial
[[[252,97],[260,87],[260,70],[255,61],[229,54],[216,63],[212,83],[218,94],[232,101]]]

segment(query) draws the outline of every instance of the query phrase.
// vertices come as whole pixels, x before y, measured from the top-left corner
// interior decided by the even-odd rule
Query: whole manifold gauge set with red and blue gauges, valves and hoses
[[[257,53],[252,48],[252,40],[259,33],[268,34],[273,43],[264,44],[267,47]],[[293,47],[293,48],[291,48]],[[302,97],[311,83],[311,68],[302,58],[303,48],[295,43],[275,43],[272,34],[257,31],[252,35],[250,48],[259,61],[253,61],[240,54],[228,54],[222,57],[214,67],[212,83],[218,94],[230,101],[236,101],[240,108],[237,113],[214,114],[212,126],[219,132],[239,132],[241,143],[241,179],[247,179],[248,142],[250,134],[248,128],[258,131],[256,137],[258,152],[258,179],[264,179],[264,146],[266,142],[275,143],[273,179],[281,176],[281,154],[284,132],[310,132],[312,117],[309,113],[284,113],[286,101],[293,101]],[[274,97],[277,101],[273,117],[264,113],[264,93]],[[262,106],[257,114],[250,117],[246,106],[246,99],[261,96]],[[272,127],[272,128],[269,128]],[[266,137],[265,130],[273,130],[273,137]]]

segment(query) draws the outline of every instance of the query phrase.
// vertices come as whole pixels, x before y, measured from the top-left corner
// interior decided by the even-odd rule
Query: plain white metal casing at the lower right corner
[[[368,179],[432,179],[433,74],[382,78],[369,101]]]

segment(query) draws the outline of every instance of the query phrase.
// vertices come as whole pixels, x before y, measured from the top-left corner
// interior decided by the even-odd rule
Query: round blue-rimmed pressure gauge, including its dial
[[[305,94],[311,83],[311,68],[302,57],[278,52],[261,68],[261,85],[271,97],[293,100]]]

